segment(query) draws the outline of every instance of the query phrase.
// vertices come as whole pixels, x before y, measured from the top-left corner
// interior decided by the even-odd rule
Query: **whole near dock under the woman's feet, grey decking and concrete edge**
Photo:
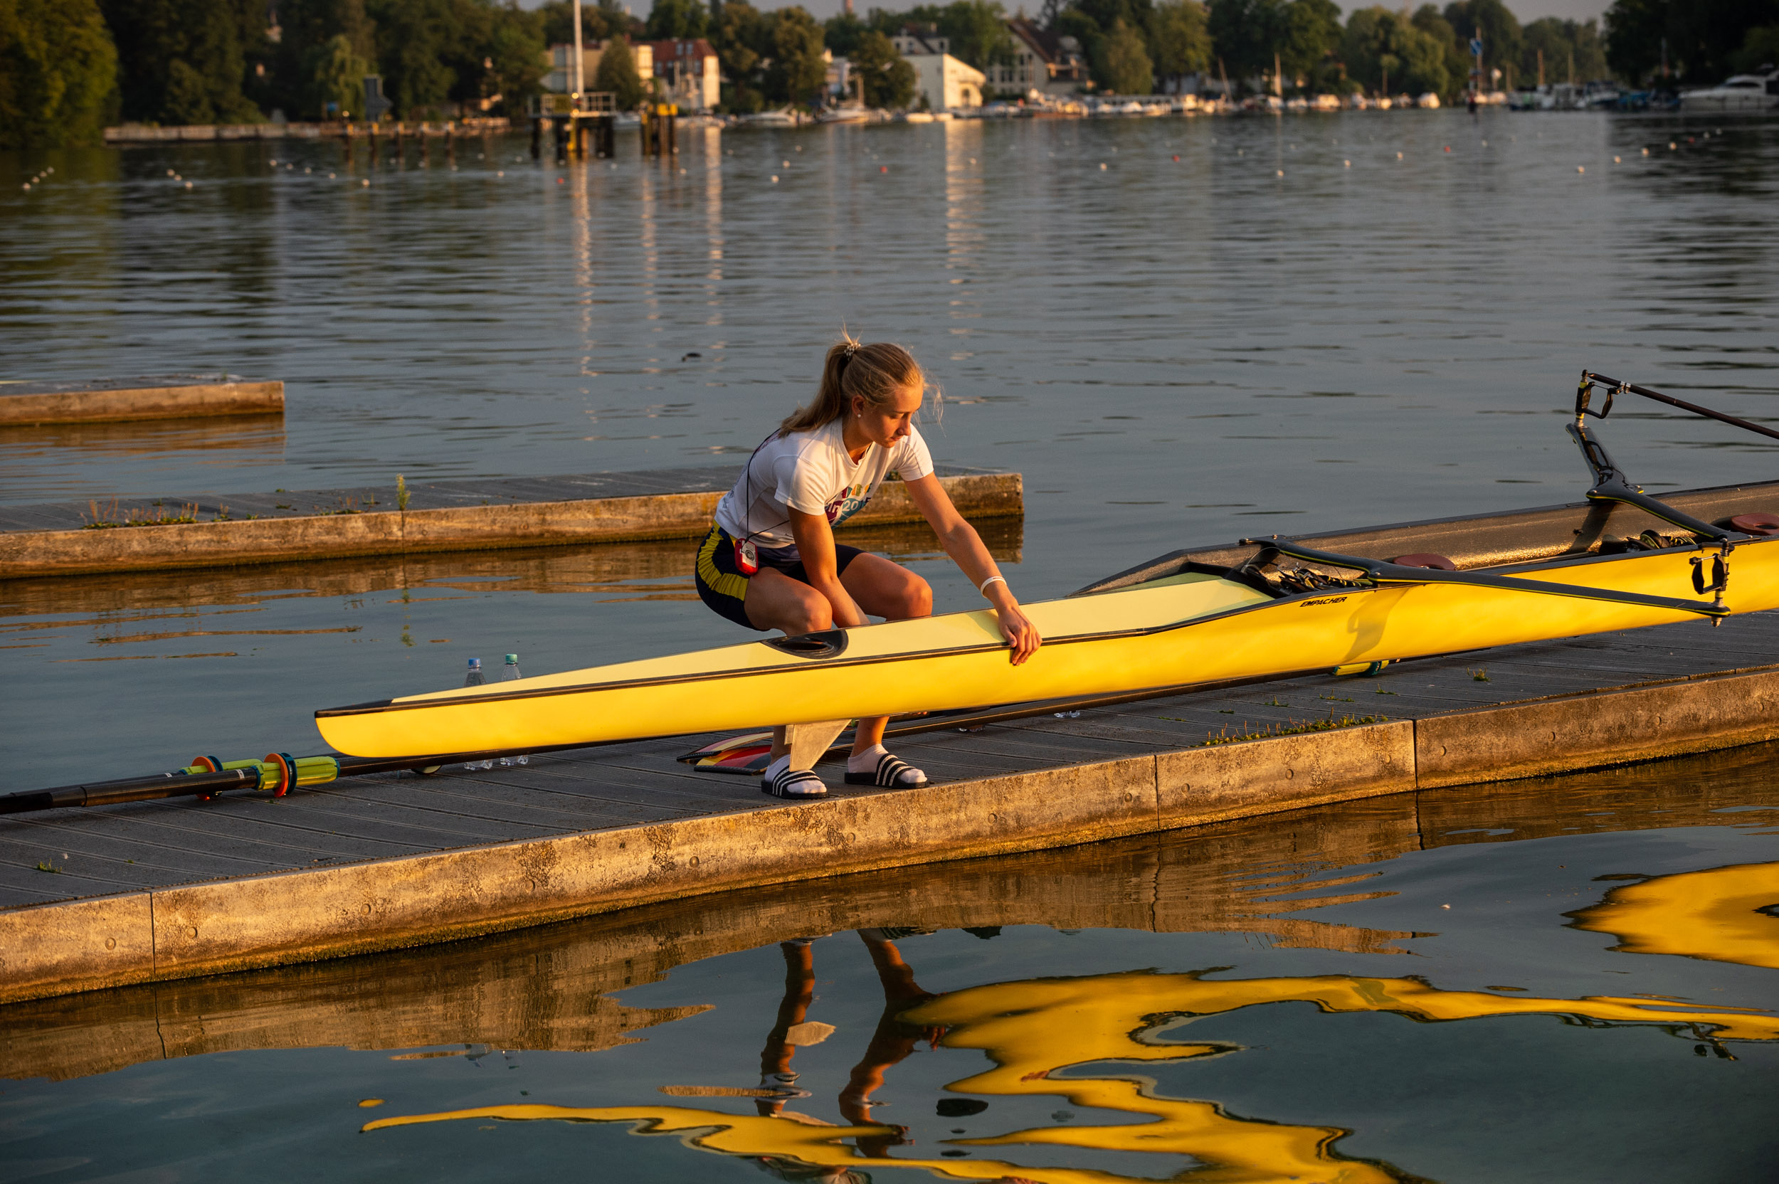
[[[808,804],[680,764],[708,740],[688,738],[343,779],[276,800],[9,816],[0,1001],[1774,738],[1779,613],[1752,613],[1719,629],[1662,626],[932,731],[895,745],[930,786],[834,786]],[[765,908],[781,896],[801,900],[747,900]],[[793,928],[827,924],[838,921],[804,916]]]

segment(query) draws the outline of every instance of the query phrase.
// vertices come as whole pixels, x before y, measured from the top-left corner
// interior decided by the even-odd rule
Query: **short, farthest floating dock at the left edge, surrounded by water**
[[[283,382],[254,382],[231,373],[0,382],[0,427],[281,414]]]

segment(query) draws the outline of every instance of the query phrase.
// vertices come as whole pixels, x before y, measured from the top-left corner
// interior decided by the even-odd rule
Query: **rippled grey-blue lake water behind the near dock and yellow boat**
[[[402,164],[336,142],[0,155],[0,375],[228,370],[288,396],[283,420],[0,430],[0,500],[733,466],[847,325],[927,363],[941,460],[1025,473],[1003,551],[1041,599],[1190,542],[1573,500],[1558,412],[1583,366],[1779,411],[1775,121],[681,144],[569,167],[521,137]],[[1654,405],[1601,434],[1654,491],[1774,469],[1767,443]],[[546,674],[737,638],[692,601],[688,555],[569,564],[591,583],[539,562],[0,585],[0,788],[315,750],[313,708],[454,684],[466,656]],[[922,571],[941,610],[977,603],[943,558]]]

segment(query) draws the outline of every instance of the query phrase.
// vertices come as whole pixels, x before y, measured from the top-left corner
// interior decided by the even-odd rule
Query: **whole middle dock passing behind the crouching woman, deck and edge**
[[[249,494],[169,494],[0,507],[0,580],[696,539],[740,469],[489,478]],[[970,519],[1025,512],[1018,473],[939,466]],[[916,523],[900,482],[884,482],[847,526]]]

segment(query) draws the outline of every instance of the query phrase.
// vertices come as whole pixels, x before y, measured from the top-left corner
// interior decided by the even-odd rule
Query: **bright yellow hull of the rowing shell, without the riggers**
[[[1692,549],[1494,569],[1546,585],[1683,597]],[[1733,612],[1779,608],[1779,539],[1738,546]],[[1174,574],[1025,606],[1044,645],[1014,667],[991,612],[461,688],[317,713],[322,738],[365,757],[493,752],[986,708],[1260,679],[1695,620],[1685,608],[1464,583],[1332,588],[1272,599]],[[822,651],[822,652],[818,652]]]

